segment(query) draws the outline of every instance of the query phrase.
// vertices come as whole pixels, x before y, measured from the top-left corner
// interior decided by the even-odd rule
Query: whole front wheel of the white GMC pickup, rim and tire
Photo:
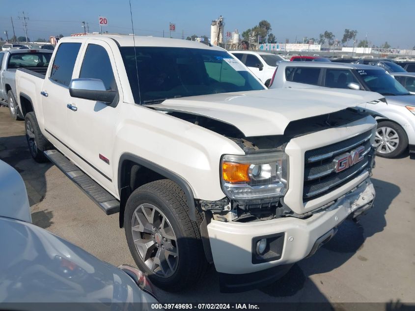
[[[130,252],[151,282],[167,291],[194,286],[207,266],[198,225],[188,213],[183,190],[168,179],[139,187],[125,207]]]

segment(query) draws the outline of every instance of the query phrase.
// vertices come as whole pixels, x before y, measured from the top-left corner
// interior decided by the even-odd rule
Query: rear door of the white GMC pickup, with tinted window
[[[71,135],[66,127],[66,105],[70,101],[69,83],[81,46],[81,42],[59,44],[40,91],[46,135],[58,149],[65,148]]]

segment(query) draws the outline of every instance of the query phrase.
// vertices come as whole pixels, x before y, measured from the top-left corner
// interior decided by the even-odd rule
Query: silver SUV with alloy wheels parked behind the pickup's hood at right
[[[335,62],[281,62],[270,88],[333,87],[378,92],[384,102],[362,103],[376,115],[377,154],[415,153],[415,96],[378,66]]]

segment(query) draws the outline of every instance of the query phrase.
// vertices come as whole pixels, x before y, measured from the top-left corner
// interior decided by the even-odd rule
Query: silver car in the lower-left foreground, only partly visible
[[[19,309],[16,303],[35,310],[39,306],[28,303],[51,302],[97,303],[97,309],[101,304],[108,310],[136,310],[133,303],[145,303],[140,307],[150,310],[157,303],[150,283],[138,269],[116,268],[31,224],[25,183],[1,160],[0,202],[2,310]]]

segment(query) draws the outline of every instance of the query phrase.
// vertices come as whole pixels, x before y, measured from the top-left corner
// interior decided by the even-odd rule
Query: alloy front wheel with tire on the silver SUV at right
[[[408,136],[398,124],[391,121],[381,121],[376,129],[375,147],[378,156],[394,158],[408,147]]]

